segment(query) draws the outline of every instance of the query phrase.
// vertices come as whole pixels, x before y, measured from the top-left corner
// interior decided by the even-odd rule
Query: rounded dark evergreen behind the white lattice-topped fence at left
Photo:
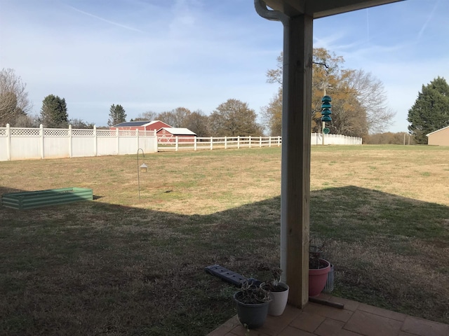
[[[69,114],[64,98],[48,94],[42,101],[41,117],[39,121],[44,127],[67,127]]]

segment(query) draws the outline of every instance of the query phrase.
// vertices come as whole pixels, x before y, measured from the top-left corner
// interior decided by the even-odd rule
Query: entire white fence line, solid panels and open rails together
[[[311,134],[311,144],[323,144],[323,135]],[[154,131],[75,130],[59,128],[0,127],[0,161],[81,158],[157,151],[199,151],[227,148],[281,146],[281,137],[176,137],[172,144],[158,144]],[[326,134],[326,145],[361,145],[362,139]]]

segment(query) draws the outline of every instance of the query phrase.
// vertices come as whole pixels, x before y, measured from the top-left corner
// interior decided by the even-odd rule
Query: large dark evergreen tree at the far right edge
[[[444,78],[438,76],[422,85],[407,120],[417,144],[427,144],[426,134],[449,126],[449,85]]]

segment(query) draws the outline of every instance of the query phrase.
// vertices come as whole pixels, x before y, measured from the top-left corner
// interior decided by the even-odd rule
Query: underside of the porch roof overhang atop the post
[[[307,14],[314,19],[403,0],[264,0],[267,6],[293,18]]]

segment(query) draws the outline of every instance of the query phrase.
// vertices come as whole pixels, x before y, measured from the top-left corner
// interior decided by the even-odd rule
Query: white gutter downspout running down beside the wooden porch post
[[[254,7],[257,14],[262,18],[272,21],[280,21],[283,25],[283,71],[282,71],[282,139],[287,139],[287,118],[286,118],[286,106],[288,99],[288,66],[290,64],[289,60],[289,28],[290,28],[290,17],[288,15],[280,12],[279,10],[269,10],[267,8],[267,3],[263,0],[254,0]],[[287,222],[284,217],[287,213],[287,167],[285,165],[286,155],[288,153],[288,142],[282,141],[282,160],[281,160],[281,269],[283,281],[285,281],[287,271],[287,237],[288,228]]]

